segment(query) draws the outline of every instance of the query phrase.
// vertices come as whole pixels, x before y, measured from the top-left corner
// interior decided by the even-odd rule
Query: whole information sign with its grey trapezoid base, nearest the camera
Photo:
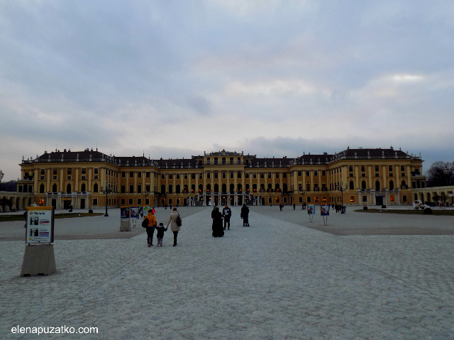
[[[54,254],[54,208],[27,207],[26,251],[21,276],[57,272]]]

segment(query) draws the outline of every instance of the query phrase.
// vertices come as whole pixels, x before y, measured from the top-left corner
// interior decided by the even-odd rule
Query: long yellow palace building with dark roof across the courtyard
[[[22,160],[18,192],[57,209],[229,204],[412,204],[425,187],[421,156],[347,148],[299,158],[226,150],[150,160],[56,150]],[[108,190],[106,190],[108,188]]]

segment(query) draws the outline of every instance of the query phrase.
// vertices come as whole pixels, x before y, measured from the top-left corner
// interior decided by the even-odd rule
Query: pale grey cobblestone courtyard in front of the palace
[[[167,231],[148,248],[140,223],[131,238],[56,239],[58,273],[46,277],[20,278],[24,241],[1,241],[0,339],[454,339],[453,216],[333,214],[331,228],[446,231],[335,236],[299,209],[252,207],[250,228],[232,210],[231,230],[212,238],[209,207],[179,208],[176,247]],[[55,220],[56,238],[116,232],[109,215]],[[4,222],[0,236],[22,225]],[[17,325],[99,331],[12,334]]]

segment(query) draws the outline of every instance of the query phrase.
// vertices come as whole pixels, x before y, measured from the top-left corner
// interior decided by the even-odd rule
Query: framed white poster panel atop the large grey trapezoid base
[[[27,207],[26,243],[50,244],[54,241],[54,208]]]

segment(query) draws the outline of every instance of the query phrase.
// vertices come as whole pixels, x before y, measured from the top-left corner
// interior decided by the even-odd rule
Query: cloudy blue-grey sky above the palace
[[[454,160],[453,1],[0,1],[0,170],[98,148]]]

